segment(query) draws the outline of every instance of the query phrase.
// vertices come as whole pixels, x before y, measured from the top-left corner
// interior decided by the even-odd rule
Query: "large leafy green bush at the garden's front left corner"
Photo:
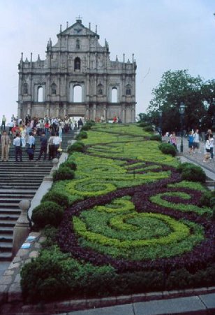
[[[50,302],[72,294],[110,294],[114,275],[113,267],[82,265],[53,246],[49,251],[43,250],[36,260],[22,268],[22,293],[27,302]]]

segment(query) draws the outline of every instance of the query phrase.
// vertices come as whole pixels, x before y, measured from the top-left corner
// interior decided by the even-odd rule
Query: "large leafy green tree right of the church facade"
[[[213,87],[213,89],[212,89]],[[186,105],[184,113],[184,130],[208,125],[207,102],[212,104],[215,97],[215,81],[204,83],[202,78],[191,76],[187,70],[166,71],[158,87],[152,90],[148,113],[152,121],[159,124],[158,111],[163,113],[162,130],[176,132],[181,130],[179,106]]]

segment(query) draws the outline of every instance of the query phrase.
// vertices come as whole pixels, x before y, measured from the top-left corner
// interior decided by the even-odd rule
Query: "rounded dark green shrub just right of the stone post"
[[[44,228],[45,225],[57,227],[63,218],[64,208],[56,202],[42,202],[34,208],[32,212],[32,221],[36,228]]]

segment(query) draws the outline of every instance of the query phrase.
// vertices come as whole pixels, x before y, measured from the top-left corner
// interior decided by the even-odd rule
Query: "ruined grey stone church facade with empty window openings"
[[[18,117],[44,118],[73,116],[84,120],[135,122],[136,62],[110,60],[107,41],[102,46],[96,31],[75,24],[63,31],[57,43],[48,41],[46,59],[19,64]]]

